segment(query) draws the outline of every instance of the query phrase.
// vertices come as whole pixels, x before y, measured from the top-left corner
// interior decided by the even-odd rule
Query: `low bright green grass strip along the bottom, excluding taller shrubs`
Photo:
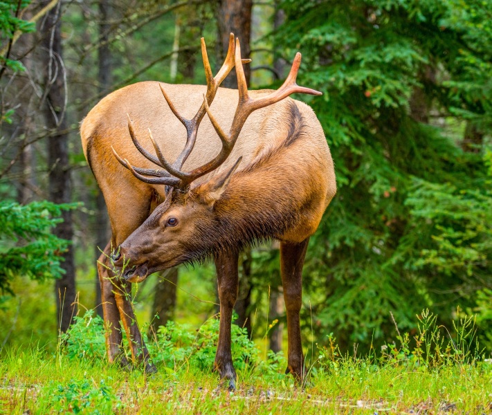
[[[316,370],[304,388],[280,369],[272,378],[246,368],[230,392],[217,387],[217,374],[190,365],[149,376],[37,347],[2,355],[2,414],[492,413],[490,362],[410,369],[347,358]]]

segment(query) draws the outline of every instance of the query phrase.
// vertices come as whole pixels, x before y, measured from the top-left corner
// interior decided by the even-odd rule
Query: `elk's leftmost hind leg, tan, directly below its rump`
[[[109,273],[109,255],[111,243],[108,243],[98,259],[99,284],[101,286],[102,315],[104,317],[104,337],[106,338],[106,351],[110,363],[119,362],[122,367],[128,367],[129,362],[122,351],[122,335],[120,330],[120,311],[116,305],[113,291],[113,282]],[[112,275],[112,273],[111,273]]]

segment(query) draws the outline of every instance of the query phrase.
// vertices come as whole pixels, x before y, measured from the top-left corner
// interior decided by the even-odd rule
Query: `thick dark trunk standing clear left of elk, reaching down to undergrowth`
[[[43,2],[46,6],[48,1]],[[64,85],[63,50],[61,37],[61,3],[48,12],[39,33],[42,35],[41,63],[44,67],[44,116],[46,127],[53,136],[48,138],[48,188],[49,199],[54,203],[71,201],[71,181],[69,166],[69,136],[65,132],[66,86]],[[63,222],[54,230],[57,237],[73,240],[72,213],[63,212]],[[55,296],[59,327],[62,332],[69,329],[77,311],[75,304],[75,266],[73,247],[62,253],[64,276],[55,283]]]

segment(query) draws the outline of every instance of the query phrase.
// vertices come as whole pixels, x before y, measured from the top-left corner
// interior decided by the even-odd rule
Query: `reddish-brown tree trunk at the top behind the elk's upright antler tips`
[[[253,0],[219,0],[218,10],[218,34],[219,44],[221,49],[219,50],[219,57],[217,59],[220,64],[224,62],[227,49],[229,46],[229,35],[234,33],[235,37],[239,38],[241,42],[241,57],[248,59],[250,57],[250,37],[251,37],[251,9],[253,8]],[[246,75],[246,82],[249,85],[250,79],[250,66],[244,65],[244,75]],[[235,69],[230,71],[226,80],[222,82],[222,86],[227,88],[237,88],[237,77]]]

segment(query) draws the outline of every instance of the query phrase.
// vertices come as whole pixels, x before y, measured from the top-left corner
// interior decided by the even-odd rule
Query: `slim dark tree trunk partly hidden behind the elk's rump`
[[[99,92],[109,92],[111,86],[111,49],[108,43],[110,6],[108,0],[99,1],[99,35],[102,45],[98,50],[98,89]],[[101,255],[101,250],[109,241],[109,217],[107,213],[104,196],[98,187],[95,196],[95,259]],[[95,270],[95,310],[102,317],[101,287],[99,284],[98,271]]]

